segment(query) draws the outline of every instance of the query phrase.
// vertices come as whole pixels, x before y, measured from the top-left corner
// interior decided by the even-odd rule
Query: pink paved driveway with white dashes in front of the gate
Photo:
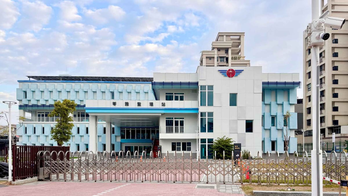
[[[202,186],[210,186],[208,189]],[[222,191],[224,193],[219,192]],[[89,195],[89,196],[244,196],[238,185],[190,183],[118,183],[118,182],[33,182],[0,188],[1,195]]]

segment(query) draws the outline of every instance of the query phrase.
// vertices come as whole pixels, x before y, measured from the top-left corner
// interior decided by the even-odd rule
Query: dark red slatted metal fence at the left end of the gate
[[[38,175],[38,157],[39,151],[69,151],[69,146],[12,146],[12,164],[13,164],[13,181],[18,179],[25,179],[29,177],[35,177]],[[70,156],[70,154],[68,155]],[[52,158],[56,159],[56,154],[52,154]],[[64,159],[64,155],[61,153],[61,160]]]

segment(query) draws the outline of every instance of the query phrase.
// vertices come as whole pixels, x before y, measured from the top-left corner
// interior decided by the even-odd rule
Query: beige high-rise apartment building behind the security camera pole
[[[321,1],[321,18],[327,16],[348,19],[348,0]],[[320,100],[320,134],[323,141],[330,142],[332,133],[336,141],[348,139],[348,24],[341,30],[325,28],[330,38],[319,51],[319,100]],[[307,48],[307,33],[303,31],[303,129],[305,143],[312,143],[312,85],[315,66],[311,66],[311,49]],[[342,131],[341,131],[342,130]]]

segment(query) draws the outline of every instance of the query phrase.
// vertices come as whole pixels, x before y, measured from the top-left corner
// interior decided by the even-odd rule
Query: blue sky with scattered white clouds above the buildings
[[[27,75],[195,73],[220,32],[245,32],[263,73],[300,73],[307,0],[0,0],[0,100]],[[302,98],[302,89],[298,90]],[[0,111],[8,110],[0,102]],[[18,119],[13,106],[12,123]],[[0,122],[4,124],[4,122]]]

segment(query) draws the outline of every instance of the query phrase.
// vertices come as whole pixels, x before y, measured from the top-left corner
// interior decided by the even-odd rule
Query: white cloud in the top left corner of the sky
[[[9,29],[17,21],[19,10],[11,0],[0,0],[0,5],[0,29]]]

